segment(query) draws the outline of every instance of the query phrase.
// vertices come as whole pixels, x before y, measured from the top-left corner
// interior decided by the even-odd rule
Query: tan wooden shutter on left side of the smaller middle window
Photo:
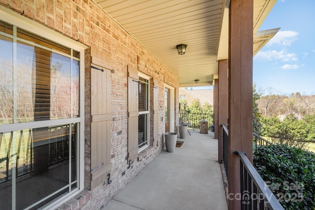
[[[128,66],[128,162],[138,157],[138,71]]]

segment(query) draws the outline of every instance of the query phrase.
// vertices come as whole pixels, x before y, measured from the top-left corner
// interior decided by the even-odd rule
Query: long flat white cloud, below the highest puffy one
[[[295,53],[286,53],[284,50],[259,51],[255,55],[255,58],[260,59],[260,60],[282,60],[284,62],[298,60]]]

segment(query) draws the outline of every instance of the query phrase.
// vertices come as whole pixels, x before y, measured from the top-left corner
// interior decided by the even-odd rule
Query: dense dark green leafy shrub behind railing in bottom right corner
[[[253,166],[285,210],[315,210],[315,153],[279,144],[257,146]]]

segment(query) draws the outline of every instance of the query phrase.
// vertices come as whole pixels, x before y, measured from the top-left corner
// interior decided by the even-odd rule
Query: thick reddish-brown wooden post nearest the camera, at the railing
[[[240,210],[235,199],[240,189],[243,151],[252,162],[252,57],[253,0],[231,0],[229,7],[228,209]],[[234,199],[232,199],[234,198]]]

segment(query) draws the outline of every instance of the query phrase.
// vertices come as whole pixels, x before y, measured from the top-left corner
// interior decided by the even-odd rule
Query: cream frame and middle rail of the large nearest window
[[[23,129],[29,129],[29,128],[35,128],[35,127],[46,127],[56,124],[70,124],[70,123],[77,123],[78,124],[78,146],[77,146],[77,154],[78,154],[78,188],[71,191],[70,193],[67,193],[62,198],[56,200],[55,202],[48,204],[47,206],[44,206],[44,210],[50,210],[50,209],[56,209],[58,206],[69,200],[70,198],[73,198],[76,196],[80,191],[84,189],[84,120],[85,120],[85,107],[84,107],[84,99],[85,99],[85,88],[84,88],[84,78],[85,78],[85,65],[84,65],[84,55],[85,55],[85,49],[88,47],[76,42],[70,38],[67,38],[63,36],[62,34],[50,30],[46,28],[45,26],[27,19],[26,17],[21,16],[20,14],[17,14],[11,10],[8,10],[7,8],[0,6],[0,20],[7,22],[11,25],[17,26],[18,28],[21,28],[23,30],[28,30],[36,35],[42,36],[42,37],[49,37],[48,40],[54,41],[58,44],[64,45],[66,47],[69,47],[75,51],[80,52],[80,87],[79,87],[79,103],[80,103],[80,110],[79,110],[79,120],[78,118],[70,118],[65,120],[47,120],[47,121],[34,121],[34,122],[26,122],[26,123],[16,123],[16,124],[5,124],[1,125],[1,132],[10,132],[12,130],[23,130]]]

